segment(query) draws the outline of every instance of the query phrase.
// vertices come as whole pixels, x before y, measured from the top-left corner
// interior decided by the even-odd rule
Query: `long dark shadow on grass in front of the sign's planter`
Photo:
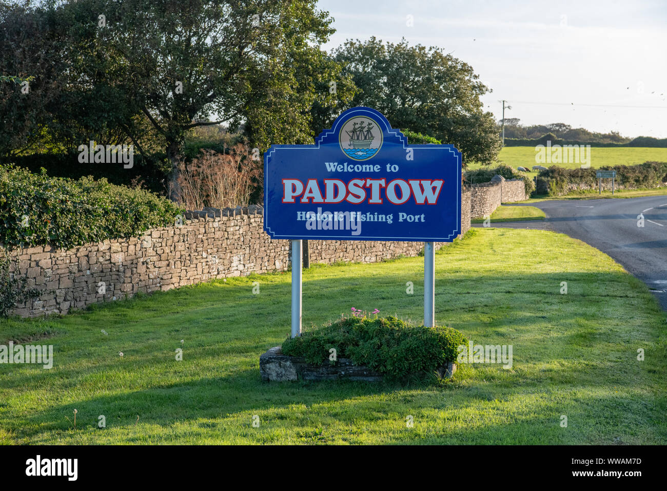
[[[245,369],[224,377],[202,377],[56,405],[26,418],[27,427],[35,430],[25,432],[24,436],[29,439],[44,430],[68,430],[71,424],[65,416],[71,419],[75,409],[81,427],[97,426],[97,417],[101,414],[105,415],[109,426],[114,423],[132,426],[137,415],[144,424],[170,425],[182,420],[215,419],[244,412],[287,409],[291,405],[311,406],[416,387],[428,387],[428,383],[407,387],[354,381],[269,383],[261,381],[259,369]],[[95,423],[91,424],[93,420]]]

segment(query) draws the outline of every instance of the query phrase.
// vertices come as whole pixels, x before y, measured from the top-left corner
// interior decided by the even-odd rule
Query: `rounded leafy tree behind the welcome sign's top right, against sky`
[[[480,96],[490,90],[472,67],[438,47],[350,40],[333,51],[360,92],[353,106],[382,112],[410,128],[454,144],[467,160],[490,163],[500,151],[496,123]]]

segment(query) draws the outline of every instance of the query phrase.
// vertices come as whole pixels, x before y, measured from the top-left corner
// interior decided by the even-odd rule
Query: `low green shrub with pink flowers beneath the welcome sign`
[[[308,363],[329,363],[329,349],[390,378],[433,373],[456,361],[457,348],[468,339],[451,327],[411,327],[396,317],[342,318],[325,327],[305,331],[282,345],[285,355]]]

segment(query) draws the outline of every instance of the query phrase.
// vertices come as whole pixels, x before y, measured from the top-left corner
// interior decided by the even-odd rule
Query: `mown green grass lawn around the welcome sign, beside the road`
[[[421,257],[311,267],[303,324],[351,307],[421,323],[423,271]],[[511,344],[512,369],[464,364],[443,384],[263,383],[259,355],[289,333],[290,277],[253,275],[0,321],[0,343],[41,338],[55,356],[51,370],[0,365],[0,442],[667,443],[665,315],[608,256],[554,232],[471,230],[438,252],[436,275],[438,324],[476,344]]]

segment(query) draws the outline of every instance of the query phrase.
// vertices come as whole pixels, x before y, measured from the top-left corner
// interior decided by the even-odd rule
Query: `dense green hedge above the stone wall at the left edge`
[[[5,247],[69,248],[138,236],[173,224],[179,214],[184,210],[165,198],[106,179],[72,180],[0,166],[0,244]]]

